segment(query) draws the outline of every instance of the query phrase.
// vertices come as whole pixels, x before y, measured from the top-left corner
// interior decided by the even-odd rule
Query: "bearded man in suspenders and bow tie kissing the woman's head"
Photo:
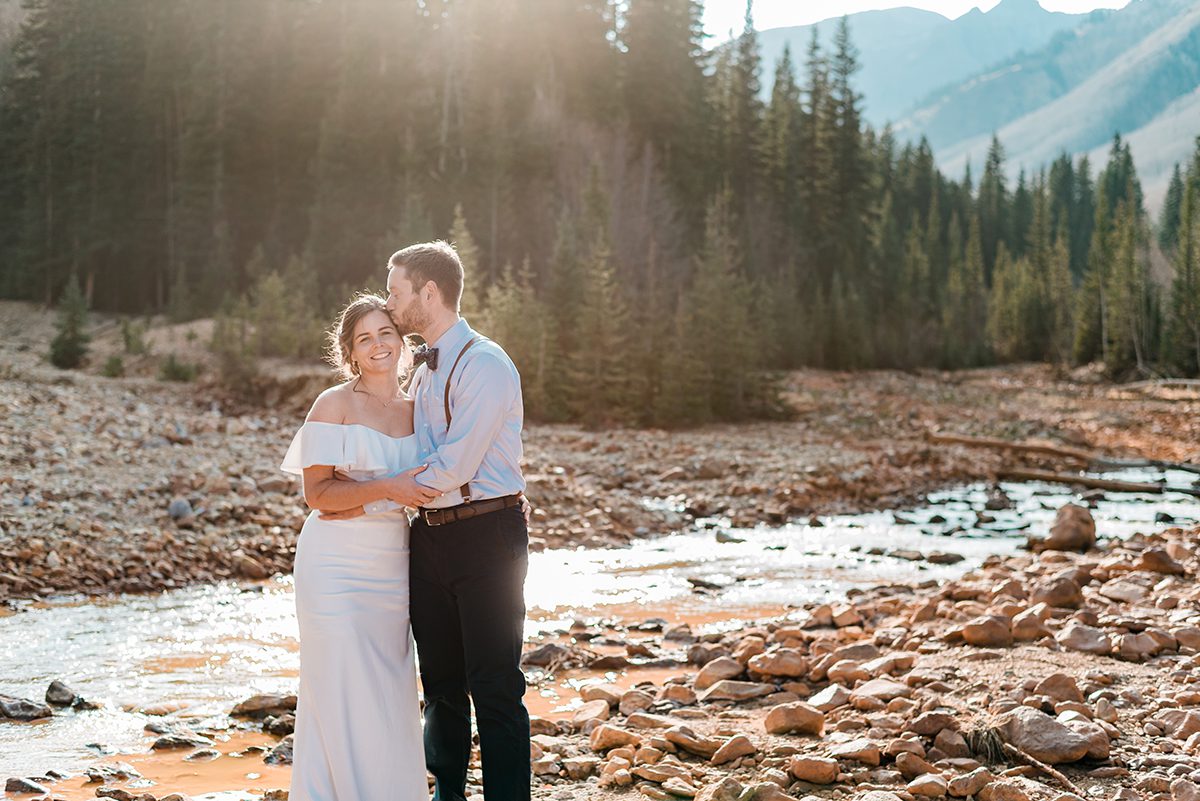
[[[458,315],[463,270],[446,242],[388,261],[388,312],[416,333],[413,427],[426,470],[389,495],[421,506],[410,541],[410,615],[425,691],[434,801],[463,801],[475,705],[487,801],[529,799],[521,645],[529,535],[521,510],[521,377]]]

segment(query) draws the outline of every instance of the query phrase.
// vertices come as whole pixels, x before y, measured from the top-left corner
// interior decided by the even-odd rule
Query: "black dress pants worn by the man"
[[[425,693],[425,763],[434,801],[463,801],[470,706],[487,801],[529,799],[529,713],[522,700],[529,532],[520,508],[412,529],[409,602]]]

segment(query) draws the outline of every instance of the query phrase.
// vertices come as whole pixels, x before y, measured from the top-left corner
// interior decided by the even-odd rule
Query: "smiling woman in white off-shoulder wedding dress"
[[[389,499],[374,481],[424,470],[413,402],[398,384],[412,354],[374,295],[354,299],[329,338],[346,381],[317,398],[282,469],[304,476],[310,507],[362,506],[365,514],[324,520],[313,511],[296,544],[300,697],[289,797],[426,801],[408,516],[396,500],[418,506],[436,493]]]

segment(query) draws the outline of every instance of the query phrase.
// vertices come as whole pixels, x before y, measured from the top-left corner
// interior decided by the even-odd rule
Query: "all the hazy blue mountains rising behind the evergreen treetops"
[[[812,26],[760,34],[768,80],[784,44],[803,78]],[[900,140],[926,138],[938,165],[976,175],[992,133],[1013,177],[1062,152],[1104,164],[1114,133],[1129,143],[1156,211],[1171,169],[1200,134],[1200,2],[1132,0],[1087,14],[1002,0],[949,20],[916,8],[850,16],[864,116]],[[835,20],[817,23],[832,46]]]

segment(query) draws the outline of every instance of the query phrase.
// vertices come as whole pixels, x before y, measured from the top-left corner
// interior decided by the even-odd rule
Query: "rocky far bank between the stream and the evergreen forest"
[[[289,572],[307,510],[277,464],[324,374],[264,365],[262,403],[246,406],[203,374],[150,378],[167,354],[203,361],[203,321],[151,329],[151,353],[130,359],[128,378],[49,367],[52,330],[46,312],[0,303],[0,603]],[[119,339],[115,323],[98,326],[92,361],[119,353]],[[934,444],[931,430],[1200,462],[1200,399],[1126,391],[1086,371],[800,371],[786,398],[790,420],[688,432],[530,424],[533,546],[902,508],[1016,462],[1063,468]]]

